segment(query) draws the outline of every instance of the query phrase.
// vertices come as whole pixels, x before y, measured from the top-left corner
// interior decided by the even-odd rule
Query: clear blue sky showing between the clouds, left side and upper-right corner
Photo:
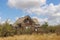
[[[46,18],[47,16],[43,16],[42,15],[36,15],[34,14],[35,12],[29,13],[29,12],[25,12],[22,9],[18,8],[18,7],[10,7],[8,5],[8,1],[9,0],[0,0],[0,17],[2,18],[1,20],[6,20],[6,19],[11,19],[11,20],[15,20],[16,17],[21,17],[21,16],[25,16],[25,15],[30,15],[31,17],[38,17],[41,19]],[[45,5],[50,5],[50,4],[55,5],[59,5],[60,4],[60,0],[46,0],[46,4]]]

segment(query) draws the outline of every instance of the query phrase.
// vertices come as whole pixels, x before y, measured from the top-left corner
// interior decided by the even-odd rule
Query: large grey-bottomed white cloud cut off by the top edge
[[[33,8],[33,7],[39,7],[40,5],[45,4],[46,0],[8,0],[8,5],[10,7],[16,7],[16,8]]]

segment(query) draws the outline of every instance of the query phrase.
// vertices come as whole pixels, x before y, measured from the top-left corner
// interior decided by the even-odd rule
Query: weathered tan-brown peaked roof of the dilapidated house
[[[37,19],[32,19],[30,16],[25,16],[25,17],[22,17],[22,18],[19,18],[18,20],[16,20],[16,22],[14,23],[13,26],[17,26],[17,24],[20,24],[20,23],[24,23],[24,21],[30,21],[30,23],[32,24],[39,24],[38,20]]]

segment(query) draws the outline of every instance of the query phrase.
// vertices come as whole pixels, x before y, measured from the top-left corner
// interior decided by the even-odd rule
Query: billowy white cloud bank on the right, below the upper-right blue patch
[[[51,25],[60,24],[60,21],[59,21],[60,20],[60,4],[59,5],[50,4],[44,7],[31,9],[31,11],[36,13],[37,15],[42,15],[43,17],[46,16],[48,18],[49,24]]]

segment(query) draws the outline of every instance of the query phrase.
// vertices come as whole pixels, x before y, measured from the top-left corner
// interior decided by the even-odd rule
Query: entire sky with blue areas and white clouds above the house
[[[29,15],[40,23],[60,24],[60,0],[0,0],[0,22]]]

